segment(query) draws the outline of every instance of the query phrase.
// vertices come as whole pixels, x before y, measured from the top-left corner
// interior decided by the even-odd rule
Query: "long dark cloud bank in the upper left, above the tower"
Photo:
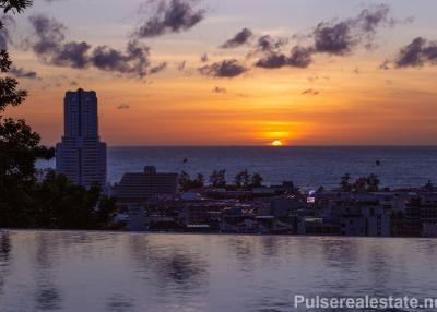
[[[86,69],[94,67],[103,71],[143,79],[156,73],[162,64],[150,69],[150,49],[138,40],[130,40],[125,50],[109,46],[92,46],[85,41],[66,41],[66,26],[46,15],[29,17],[34,36],[28,44],[47,64]]]

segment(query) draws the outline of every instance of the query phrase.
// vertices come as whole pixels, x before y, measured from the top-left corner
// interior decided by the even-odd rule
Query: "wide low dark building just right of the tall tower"
[[[113,195],[119,205],[135,205],[149,200],[173,197],[177,188],[177,173],[161,173],[156,172],[155,167],[146,166],[143,172],[125,173],[113,188]]]

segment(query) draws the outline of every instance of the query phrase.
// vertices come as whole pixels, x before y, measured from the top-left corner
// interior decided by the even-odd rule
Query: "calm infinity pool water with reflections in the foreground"
[[[0,311],[295,311],[293,296],[437,297],[437,240],[0,233]]]

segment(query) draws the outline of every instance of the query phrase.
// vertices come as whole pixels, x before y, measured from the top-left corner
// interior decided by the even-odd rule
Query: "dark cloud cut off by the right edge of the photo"
[[[425,64],[437,64],[437,41],[423,37],[414,38],[403,47],[394,60],[397,68],[420,68]]]

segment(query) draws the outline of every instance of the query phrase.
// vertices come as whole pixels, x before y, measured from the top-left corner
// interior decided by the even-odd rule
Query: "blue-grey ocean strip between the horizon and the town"
[[[380,161],[380,165],[377,165]],[[38,163],[39,168],[55,161]],[[108,179],[118,182],[125,172],[155,166],[158,171],[205,179],[215,169],[226,169],[228,181],[240,170],[260,173],[265,184],[293,181],[303,189],[338,187],[344,173],[358,177],[376,173],[381,185],[420,187],[437,182],[437,147],[109,147]]]

